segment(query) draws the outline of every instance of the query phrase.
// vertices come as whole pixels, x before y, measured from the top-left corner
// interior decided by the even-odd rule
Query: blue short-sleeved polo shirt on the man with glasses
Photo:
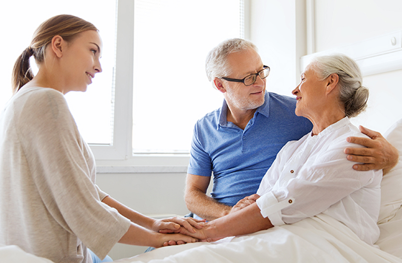
[[[265,93],[245,129],[227,121],[227,104],[199,119],[194,126],[187,173],[214,175],[211,196],[233,206],[255,194],[279,150],[308,134],[313,125],[294,113],[295,98]]]

